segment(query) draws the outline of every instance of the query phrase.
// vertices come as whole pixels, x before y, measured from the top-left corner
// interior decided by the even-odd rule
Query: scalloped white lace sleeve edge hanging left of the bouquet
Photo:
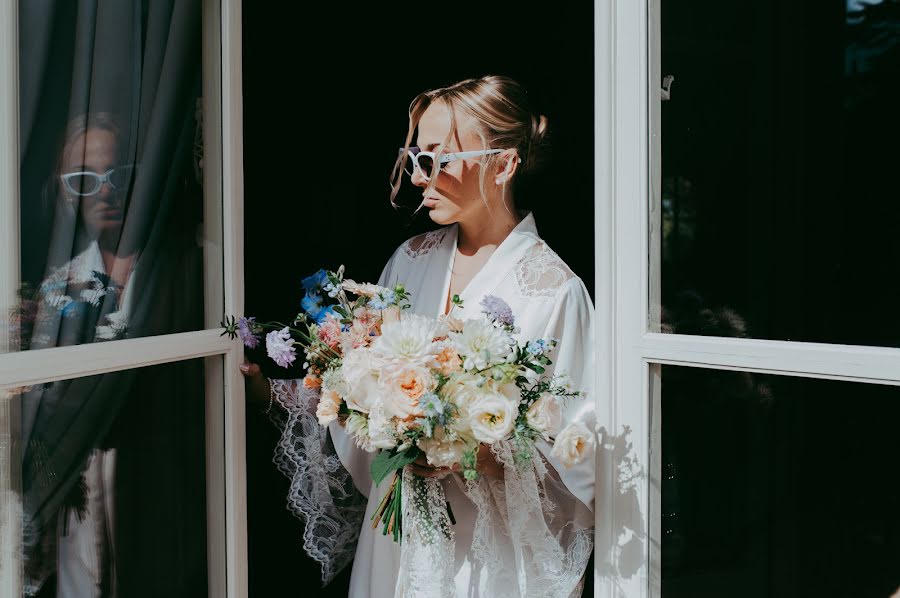
[[[353,560],[366,499],[316,420],[316,392],[299,380],[270,384],[281,407],[270,411],[281,430],[273,461],[291,482],[288,510],[303,521],[303,548],[322,566],[327,584]]]

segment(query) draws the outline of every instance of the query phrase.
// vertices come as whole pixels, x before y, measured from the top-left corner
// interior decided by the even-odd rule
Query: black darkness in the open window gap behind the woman
[[[377,280],[405,239],[434,228],[406,183],[388,177],[410,101],[486,74],[518,80],[553,134],[545,168],[522,181],[520,207],[593,291],[593,13],[590,3],[244,4],[247,313],[286,319],[300,279],[320,267]],[[253,355],[273,377],[291,377]],[[248,409],[251,596],[319,589],[302,527],[272,465],[276,430]],[[588,576],[590,577],[590,576]],[[320,595],[346,596],[349,568]],[[591,590],[588,589],[588,595]]]

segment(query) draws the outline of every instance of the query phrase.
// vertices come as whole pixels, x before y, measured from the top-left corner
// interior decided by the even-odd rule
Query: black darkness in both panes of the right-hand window
[[[874,3],[872,3],[874,4]],[[663,324],[900,346],[900,2],[662,2]],[[900,586],[896,387],[662,368],[667,598]]]

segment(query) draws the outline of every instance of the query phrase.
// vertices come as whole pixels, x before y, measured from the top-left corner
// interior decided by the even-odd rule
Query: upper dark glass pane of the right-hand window
[[[663,330],[900,346],[900,3],[661,4]]]

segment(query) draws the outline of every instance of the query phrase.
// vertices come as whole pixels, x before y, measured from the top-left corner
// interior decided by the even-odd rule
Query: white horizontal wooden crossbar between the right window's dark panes
[[[900,349],[894,348],[680,334],[647,334],[638,348],[657,363],[900,384]]]

